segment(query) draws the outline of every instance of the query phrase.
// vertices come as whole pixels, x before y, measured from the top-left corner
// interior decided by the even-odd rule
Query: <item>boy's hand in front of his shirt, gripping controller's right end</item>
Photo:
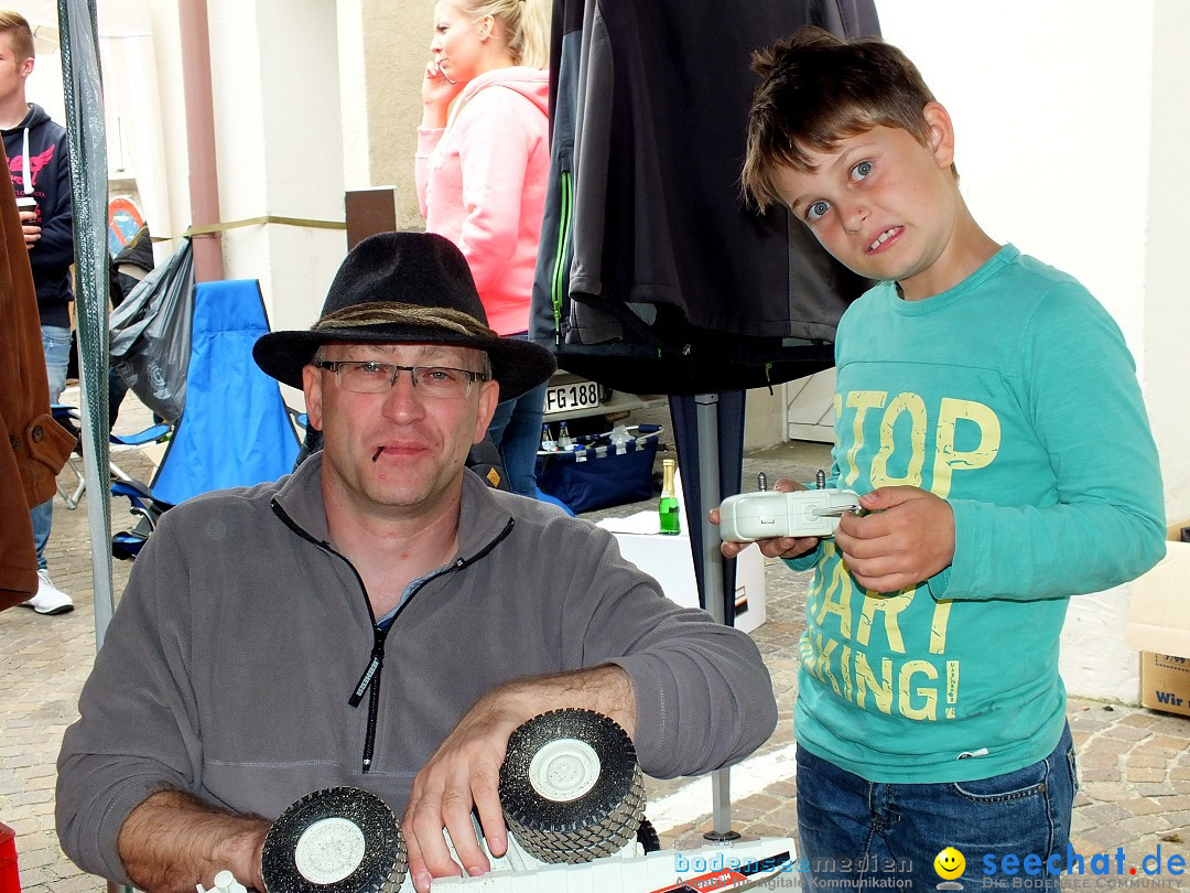
[[[954,514],[945,499],[919,487],[879,487],[859,504],[869,514],[845,514],[834,542],[862,586],[896,592],[954,560]]]

